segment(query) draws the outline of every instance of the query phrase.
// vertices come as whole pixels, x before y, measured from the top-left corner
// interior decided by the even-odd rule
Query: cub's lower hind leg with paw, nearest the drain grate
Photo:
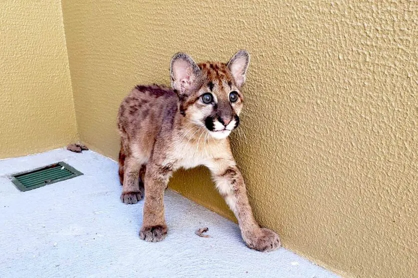
[[[145,166],[136,158],[126,156],[121,201],[125,204],[136,204],[143,197],[144,183],[141,175]],[[142,190],[141,190],[142,189]]]

